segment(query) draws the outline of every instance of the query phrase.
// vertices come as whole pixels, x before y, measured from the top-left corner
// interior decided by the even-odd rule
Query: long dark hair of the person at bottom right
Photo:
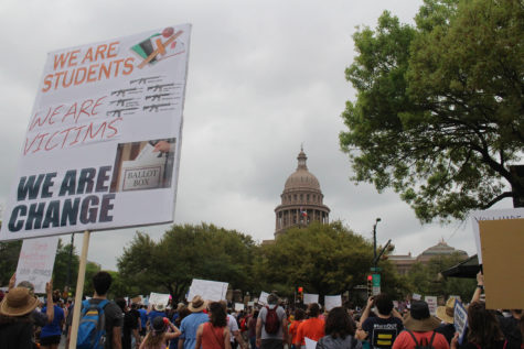
[[[468,341],[485,349],[495,347],[495,341],[504,338],[499,320],[483,302],[473,302],[468,307]]]

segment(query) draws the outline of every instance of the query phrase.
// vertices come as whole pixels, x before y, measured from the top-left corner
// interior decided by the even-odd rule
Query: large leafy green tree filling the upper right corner
[[[357,90],[340,144],[356,182],[399,193],[417,217],[463,219],[524,184],[524,7],[425,0],[416,25],[387,11],[354,34],[345,75]]]

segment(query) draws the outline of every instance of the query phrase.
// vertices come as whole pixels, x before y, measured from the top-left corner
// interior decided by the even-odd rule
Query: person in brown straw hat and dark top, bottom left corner
[[[0,304],[0,346],[4,349],[33,348],[31,313],[39,299],[25,287],[13,287]]]

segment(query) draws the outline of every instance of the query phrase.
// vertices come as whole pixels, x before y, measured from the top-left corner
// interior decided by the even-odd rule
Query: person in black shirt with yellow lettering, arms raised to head
[[[377,316],[370,317],[373,306]],[[402,316],[393,306],[393,301],[385,293],[372,296],[361,316],[361,329],[356,332],[360,340],[367,339],[370,348],[392,348],[395,338],[403,330]]]

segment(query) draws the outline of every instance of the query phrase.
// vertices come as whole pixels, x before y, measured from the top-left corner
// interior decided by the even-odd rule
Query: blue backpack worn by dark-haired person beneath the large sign
[[[76,339],[77,349],[103,349],[106,341],[106,317],[104,308],[109,301],[104,299],[98,304],[89,301],[82,302],[81,323]]]

